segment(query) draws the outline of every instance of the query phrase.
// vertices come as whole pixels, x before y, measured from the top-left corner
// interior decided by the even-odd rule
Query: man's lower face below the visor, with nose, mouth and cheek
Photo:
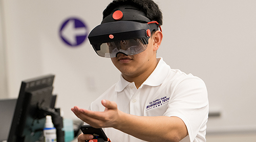
[[[117,54],[116,58],[111,58],[113,64],[120,70],[123,77],[138,77],[143,74],[153,64],[156,59],[156,51],[153,51],[152,38],[148,39],[148,45],[145,51],[128,55]]]

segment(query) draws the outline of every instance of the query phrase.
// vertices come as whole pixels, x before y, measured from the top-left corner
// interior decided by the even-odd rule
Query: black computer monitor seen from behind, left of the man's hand
[[[8,142],[40,141],[48,114],[44,110],[51,110],[55,104],[53,80],[54,75],[46,75],[22,81]]]

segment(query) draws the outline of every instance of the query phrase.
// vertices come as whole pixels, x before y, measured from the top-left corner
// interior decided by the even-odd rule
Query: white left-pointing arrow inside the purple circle
[[[76,36],[86,35],[87,31],[85,27],[75,28],[75,20],[71,19],[68,21],[65,27],[62,29],[62,37],[65,38],[70,44],[76,45]]]

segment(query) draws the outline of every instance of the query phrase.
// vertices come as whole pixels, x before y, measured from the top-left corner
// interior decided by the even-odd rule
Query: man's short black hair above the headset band
[[[103,19],[110,15],[115,8],[122,5],[132,5],[146,14],[151,21],[157,21],[161,26],[163,24],[163,15],[158,5],[153,0],[114,0],[103,11]]]

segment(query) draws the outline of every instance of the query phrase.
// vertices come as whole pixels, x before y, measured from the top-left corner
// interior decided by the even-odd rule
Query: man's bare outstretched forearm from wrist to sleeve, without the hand
[[[187,135],[186,126],[179,117],[119,114],[114,128],[145,141],[180,141]]]

